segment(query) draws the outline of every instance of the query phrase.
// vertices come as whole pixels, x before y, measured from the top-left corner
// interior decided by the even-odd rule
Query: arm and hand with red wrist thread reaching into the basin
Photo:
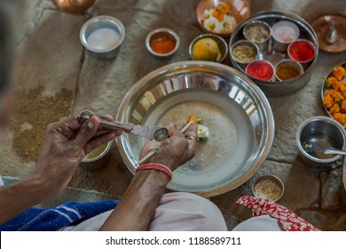
[[[172,171],[192,159],[195,153],[195,141],[185,136],[197,138],[197,127],[191,126],[185,134],[180,133],[174,124],[169,124],[169,143],[163,141],[157,153],[145,161],[168,166]],[[140,157],[158,147],[160,143],[149,141],[142,149]],[[101,230],[146,230],[159,203],[169,176],[157,170],[138,171],[132,179],[121,202],[108,217]]]

